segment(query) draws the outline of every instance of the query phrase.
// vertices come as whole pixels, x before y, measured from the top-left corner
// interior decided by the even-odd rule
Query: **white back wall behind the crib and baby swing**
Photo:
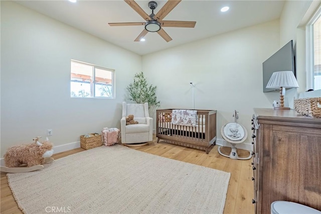
[[[279,23],[272,21],[144,55],[142,67],[157,85],[162,109],[193,109],[193,81],[195,109],[218,111],[221,139],[221,127],[234,120],[234,110],[251,133],[253,108],[271,108],[273,93],[262,92],[262,62],[278,49]]]

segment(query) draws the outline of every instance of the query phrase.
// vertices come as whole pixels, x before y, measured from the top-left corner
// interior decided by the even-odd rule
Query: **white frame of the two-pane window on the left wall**
[[[98,65],[94,65],[94,64],[90,64],[90,63],[86,63],[86,62],[73,60],[73,59],[70,61],[70,64],[72,62],[76,62],[76,63],[79,63],[79,64],[84,64],[84,65],[92,67],[92,84],[91,84],[91,88],[90,88],[91,93],[90,93],[90,96],[88,96],[88,97],[71,96],[71,86],[70,86],[69,93],[70,93],[70,97],[71,98],[103,98],[103,99],[114,99],[115,98],[115,70],[109,69],[109,68],[104,68],[104,67],[101,67],[101,66],[98,66]],[[106,71],[111,72],[111,96],[110,97],[96,96],[96,87],[95,87],[95,74],[96,74],[95,70],[96,69],[101,69],[101,70],[106,70]],[[70,68],[70,72],[71,72],[71,68]],[[71,83],[71,80],[70,80],[70,83]]]

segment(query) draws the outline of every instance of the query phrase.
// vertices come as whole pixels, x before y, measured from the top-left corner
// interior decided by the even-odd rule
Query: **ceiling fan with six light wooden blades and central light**
[[[179,27],[179,28],[194,28],[196,22],[190,21],[163,21],[163,19],[182,1],[182,0],[169,0],[161,10],[154,14],[154,10],[157,7],[157,3],[151,1],[148,3],[148,7],[151,10],[151,14],[146,14],[138,4],[133,0],[124,0],[134,11],[136,11],[146,22],[124,22],[124,23],[108,23],[110,26],[139,26],[144,25],[144,30],[134,40],[139,42],[148,32],[157,32],[167,42],[172,38],[165,32],[163,27]]]

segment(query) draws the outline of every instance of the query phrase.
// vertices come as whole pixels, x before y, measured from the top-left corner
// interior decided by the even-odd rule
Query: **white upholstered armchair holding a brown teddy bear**
[[[134,116],[134,121],[138,124],[126,126],[126,117]],[[152,118],[149,117],[148,103],[122,103],[122,118],[120,120],[121,143],[127,146],[147,144],[152,141]]]

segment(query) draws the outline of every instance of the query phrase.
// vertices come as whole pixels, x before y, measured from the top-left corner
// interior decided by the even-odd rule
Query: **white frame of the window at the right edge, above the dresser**
[[[306,90],[314,89],[314,46],[313,46],[313,24],[321,16],[321,6],[311,16],[305,26],[306,38]]]

